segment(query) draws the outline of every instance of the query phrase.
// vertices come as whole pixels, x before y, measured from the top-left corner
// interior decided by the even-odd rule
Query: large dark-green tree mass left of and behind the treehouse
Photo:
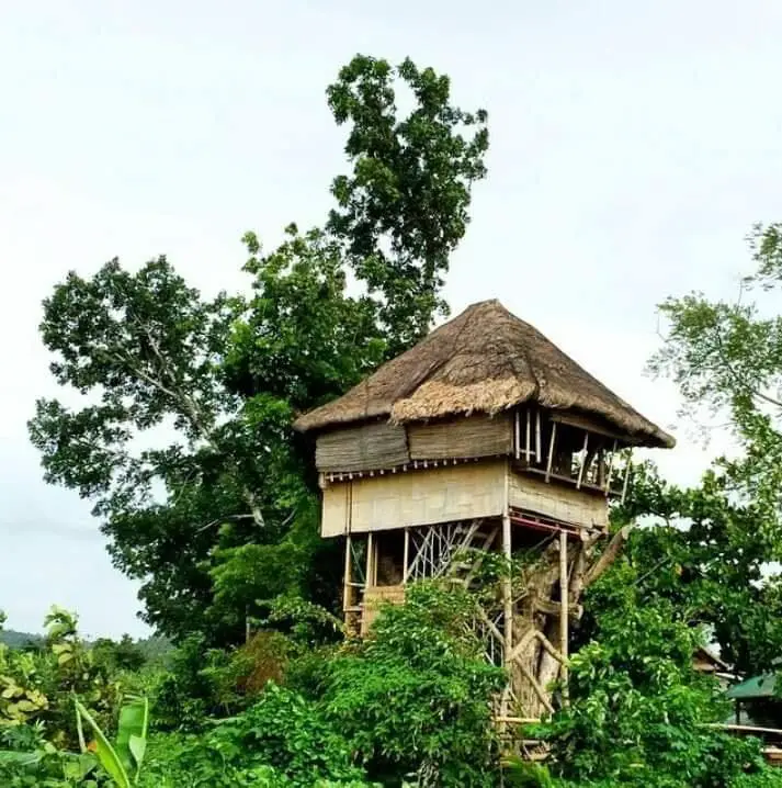
[[[401,121],[397,80],[412,89]],[[340,72],[328,99],[352,171],[324,229],[291,226],[269,252],[246,236],[251,297],[203,299],[161,257],[70,273],[44,302],[52,372],[81,398],[39,401],[31,439],[46,481],[94,503],[161,632],[235,639],[269,596],[336,598],[310,452],[291,425],[442,311],[487,147],[486,113],[449,97],[447,77],[410,60],[358,56]]]

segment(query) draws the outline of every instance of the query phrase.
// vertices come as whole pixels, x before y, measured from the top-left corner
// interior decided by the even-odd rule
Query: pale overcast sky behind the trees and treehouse
[[[36,326],[69,269],[166,252],[204,291],[243,283],[239,238],[319,223],[342,134],[324,90],[356,52],[410,55],[489,111],[489,177],[453,259],[454,308],[489,297],[573,354],[680,444],[709,452],[643,378],[655,305],[737,290],[753,222],[782,219],[782,4],[0,0],[0,608],[39,628],[140,634],[75,493],[27,444],[55,393]]]

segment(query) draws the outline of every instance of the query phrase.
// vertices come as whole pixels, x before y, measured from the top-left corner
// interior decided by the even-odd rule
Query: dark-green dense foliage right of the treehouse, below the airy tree
[[[782,595],[768,573],[781,555],[775,519],[732,495],[724,474],[709,471],[683,489],[650,466],[635,470],[615,517],[644,522],[626,549],[644,598],[665,599],[677,620],[707,630],[736,669],[770,668],[782,653]]]

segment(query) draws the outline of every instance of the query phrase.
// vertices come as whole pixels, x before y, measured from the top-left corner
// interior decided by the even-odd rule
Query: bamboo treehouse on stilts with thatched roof
[[[503,713],[551,710],[609,500],[635,447],[673,439],[498,301],[295,426],[315,437],[321,534],[344,540],[348,624],[366,633],[413,581],[469,585],[487,551],[528,556],[475,627],[512,676]]]

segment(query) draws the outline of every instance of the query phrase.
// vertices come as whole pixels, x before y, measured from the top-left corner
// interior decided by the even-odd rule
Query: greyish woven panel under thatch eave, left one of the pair
[[[409,459],[405,428],[387,421],[326,432],[316,441],[315,464],[324,473],[381,471]]]

